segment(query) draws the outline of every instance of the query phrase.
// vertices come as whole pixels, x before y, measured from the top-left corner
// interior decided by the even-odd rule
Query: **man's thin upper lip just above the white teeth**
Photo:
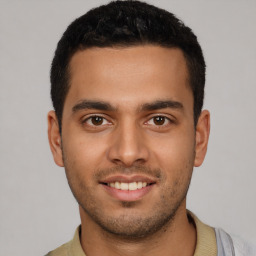
[[[114,183],[114,182],[124,182],[124,183],[131,183],[131,182],[146,182],[146,183],[156,183],[156,180],[144,175],[113,175],[109,176],[105,179],[100,180],[100,183]]]

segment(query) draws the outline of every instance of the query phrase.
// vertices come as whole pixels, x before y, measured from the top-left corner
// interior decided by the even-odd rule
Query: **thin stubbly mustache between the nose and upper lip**
[[[106,169],[98,169],[94,173],[94,178],[96,180],[102,180],[108,176],[115,175],[115,174],[125,174],[125,175],[133,175],[133,174],[144,174],[147,176],[155,177],[157,179],[163,179],[164,174],[161,171],[160,168],[150,168],[147,166],[131,166],[131,167],[125,167],[125,166],[115,166],[112,168],[106,168]]]

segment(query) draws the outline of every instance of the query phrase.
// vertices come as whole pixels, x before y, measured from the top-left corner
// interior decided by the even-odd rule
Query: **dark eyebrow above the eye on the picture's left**
[[[107,102],[82,100],[72,108],[72,111],[73,113],[75,113],[79,110],[84,110],[84,109],[98,109],[98,110],[105,110],[105,111],[115,110],[115,108]]]

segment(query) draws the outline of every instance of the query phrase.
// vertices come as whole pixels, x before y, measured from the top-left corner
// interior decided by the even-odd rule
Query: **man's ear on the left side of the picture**
[[[48,140],[52,151],[55,163],[63,167],[61,136],[59,130],[59,123],[55,111],[50,111],[47,116],[48,119]]]

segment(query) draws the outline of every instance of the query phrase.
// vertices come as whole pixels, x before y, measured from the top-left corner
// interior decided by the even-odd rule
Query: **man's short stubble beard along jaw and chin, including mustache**
[[[179,179],[173,182],[172,186],[166,187],[162,191],[159,201],[152,205],[150,212],[143,216],[136,213],[133,214],[133,210],[136,210],[136,206],[140,202],[120,202],[120,206],[124,209],[124,214],[113,217],[111,212],[104,212],[104,209],[97,202],[97,198],[95,198],[93,193],[94,188],[86,187],[83,184],[82,177],[75,179],[72,176],[72,165],[70,166],[65,158],[64,163],[69,186],[84,213],[108,234],[129,240],[150,237],[160,230],[165,231],[172,224],[177,210],[186,198],[193,169],[193,165],[187,163],[187,170],[181,171],[188,172],[190,175],[179,177]],[[127,170],[127,168],[125,169]],[[123,173],[123,170],[124,168],[120,166],[112,169],[98,170],[95,172],[95,179],[104,177],[107,173]],[[163,172],[159,169],[135,166],[130,171],[153,175],[153,177],[157,177],[160,180],[160,184],[165,180]]]

